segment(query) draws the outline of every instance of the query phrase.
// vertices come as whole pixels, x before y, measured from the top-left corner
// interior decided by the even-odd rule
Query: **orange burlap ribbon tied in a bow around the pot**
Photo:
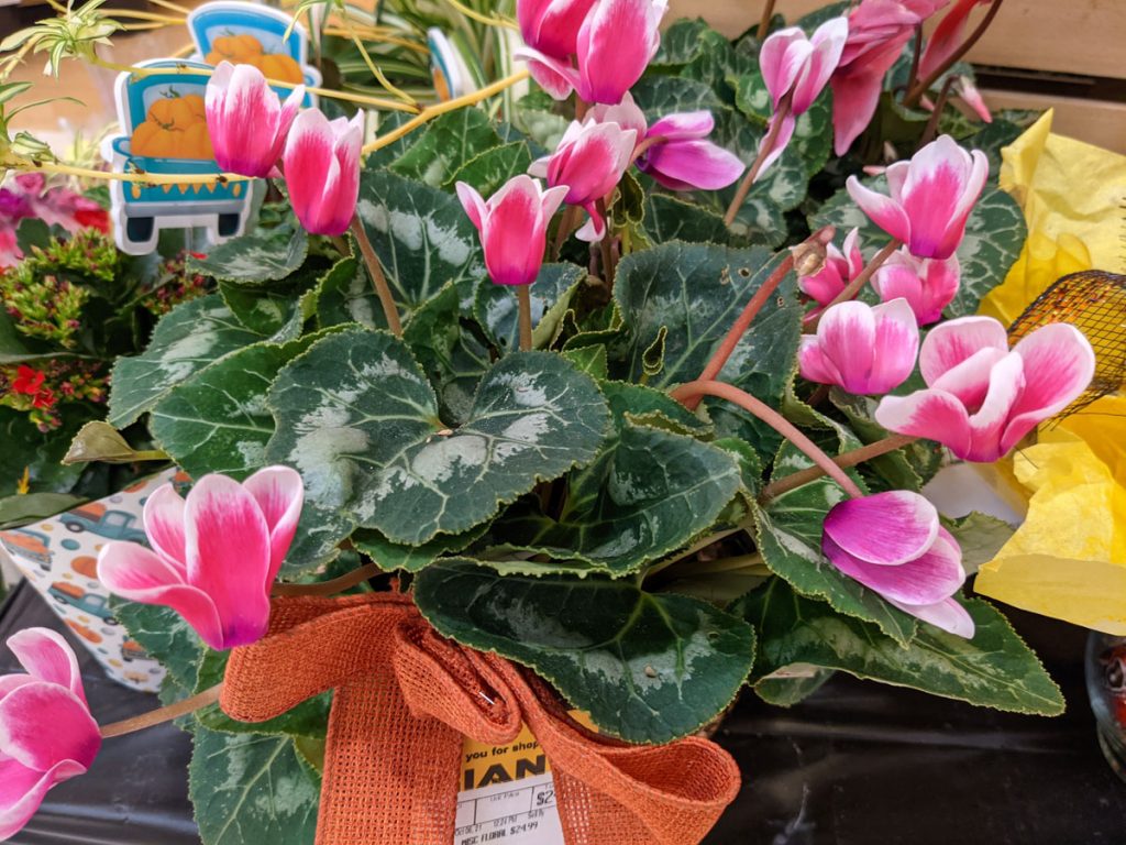
[[[531,673],[441,638],[401,594],[275,598],[266,638],[231,652],[220,704],[259,722],[328,690],[318,845],[452,845],[463,735],[508,745],[524,722],[568,845],[694,845],[739,792],[714,742],[588,731]]]

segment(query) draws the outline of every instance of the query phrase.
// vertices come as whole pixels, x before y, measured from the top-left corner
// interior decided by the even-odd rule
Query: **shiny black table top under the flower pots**
[[[995,713],[844,675],[789,710],[747,694],[716,737],[743,789],[706,845],[1126,844],[1126,783],[1102,759],[1083,686],[1087,632],[1006,613],[1063,688],[1064,715]],[[74,643],[99,722],[157,706],[109,681],[20,586],[0,608],[0,640],[29,625]],[[0,674],[16,668],[0,649]],[[107,740],[11,842],[197,845],[189,756],[170,724]]]

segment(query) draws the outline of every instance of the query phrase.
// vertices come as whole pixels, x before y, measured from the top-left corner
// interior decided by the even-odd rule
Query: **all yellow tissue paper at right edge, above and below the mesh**
[[[1120,203],[1126,157],[1052,134],[1052,113],[1003,151],[1001,187],[1020,204],[1028,242],[980,312],[1006,324],[1061,276],[1126,272]],[[975,589],[1007,604],[1126,634],[1126,397],[1108,395],[1040,427],[999,462],[1028,513]]]

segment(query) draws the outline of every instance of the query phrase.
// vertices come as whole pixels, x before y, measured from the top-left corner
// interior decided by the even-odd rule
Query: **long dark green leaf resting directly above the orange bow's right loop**
[[[753,659],[754,631],[742,620],[632,579],[501,576],[452,559],[414,585],[439,632],[530,666],[599,730],[633,742],[699,730],[731,703]]]

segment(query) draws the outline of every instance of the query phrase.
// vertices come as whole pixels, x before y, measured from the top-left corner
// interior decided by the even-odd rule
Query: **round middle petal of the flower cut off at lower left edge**
[[[26,684],[0,700],[0,754],[46,772],[63,760],[89,768],[101,747],[86,702],[57,684]]]

